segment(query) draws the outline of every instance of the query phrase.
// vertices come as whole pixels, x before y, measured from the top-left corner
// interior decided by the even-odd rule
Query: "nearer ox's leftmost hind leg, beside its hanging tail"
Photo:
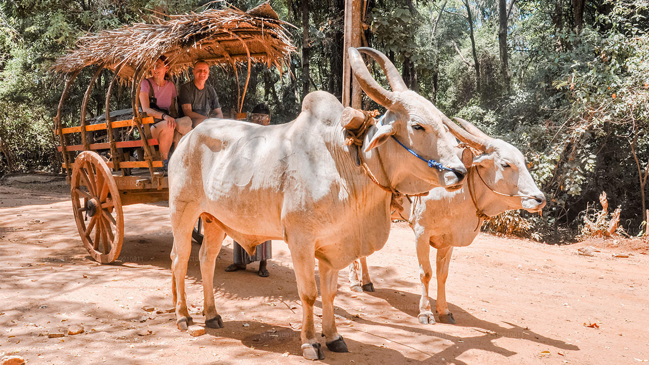
[[[171,217],[173,224],[173,248],[171,249],[171,277],[173,280],[173,305],[176,308],[176,325],[186,330],[193,322],[187,309],[185,296],[185,275],[191,254],[191,230],[194,220],[186,217]],[[186,222],[191,221],[191,225]]]

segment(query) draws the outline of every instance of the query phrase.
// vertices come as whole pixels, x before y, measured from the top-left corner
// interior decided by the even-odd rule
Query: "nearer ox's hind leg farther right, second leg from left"
[[[203,281],[203,314],[205,326],[210,328],[223,327],[223,320],[214,304],[214,266],[216,257],[221,251],[225,233],[214,223],[214,218],[203,216],[204,238],[199,251],[201,260],[201,277]]]

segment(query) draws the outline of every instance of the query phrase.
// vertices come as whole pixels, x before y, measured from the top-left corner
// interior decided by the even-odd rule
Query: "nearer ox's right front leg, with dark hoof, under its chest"
[[[347,344],[336,329],[336,318],[334,317],[334,298],[338,287],[338,271],[331,266],[319,265],[320,292],[323,299],[323,336],[326,340],[326,347],[334,352],[348,352]]]

